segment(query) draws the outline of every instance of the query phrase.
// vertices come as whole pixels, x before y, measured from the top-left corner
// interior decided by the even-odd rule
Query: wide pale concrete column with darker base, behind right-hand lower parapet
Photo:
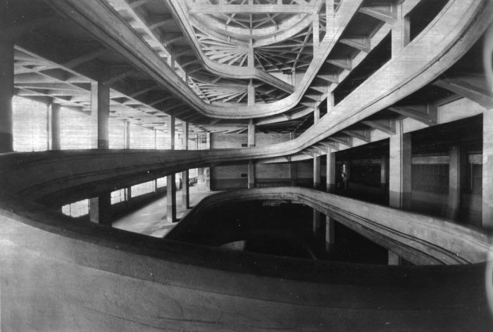
[[[389,206],[411,208],[411,134],[404,134],[402,120],[390,136]]]

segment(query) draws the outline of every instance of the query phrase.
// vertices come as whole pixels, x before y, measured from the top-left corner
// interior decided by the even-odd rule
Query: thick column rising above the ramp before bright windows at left
[[[91,83],[91,117],[94,128],[92,148],[109,148],[110,87]]]

